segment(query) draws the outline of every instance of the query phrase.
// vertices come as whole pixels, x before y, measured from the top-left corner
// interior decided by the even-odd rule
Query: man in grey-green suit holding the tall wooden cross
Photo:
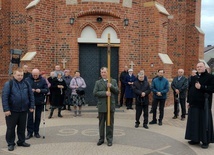
[[[107,98],[110,96],[110,126],[106,126],[107,145],[112,146],[113,129],[114,129],[114,112],[115,112],[115,95],[119,93],[117,81],[115,79],[107,79],[108,70],[106,67],[100,69],[101,79],[96,81],[93,94],[97,97],[98,113],[99,113],[99,135],[100,139],[97,145],[102,145],[105,140],[105,124],[107,124]],[[110,88],[110,92],[107,91]]]

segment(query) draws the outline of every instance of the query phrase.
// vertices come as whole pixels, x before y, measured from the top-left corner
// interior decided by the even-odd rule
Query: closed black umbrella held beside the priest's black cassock
[[[206,141],[208,143],[208,130],[209,130],[209,114],[208,114],[208,109],[209,109],[209,94],[205,93],[204,94],[205,97],[205,103],[204,103],[204,113],[205,113],[205,127],[206,127]]]

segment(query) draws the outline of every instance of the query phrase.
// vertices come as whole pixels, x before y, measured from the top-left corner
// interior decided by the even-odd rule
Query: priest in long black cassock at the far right
[[[197,64],[197,73],[191,77],[188,91],[189,111],[185,139],[190,140],[188,141],[190,145],[202,142],[201,147],[206,149],[209,143],[214,142],[211,112],[214,76],[207,72],[203,62]],[[206,104],[205,95],[209,96]]]

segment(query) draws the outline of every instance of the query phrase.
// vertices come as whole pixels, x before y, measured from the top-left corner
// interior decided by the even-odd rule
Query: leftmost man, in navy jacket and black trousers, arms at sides
[[[25,142],[27,112],[34,110],[34,96],[31,86],[23,80],[23,70],[13,72],[13,79],[6,82],[2,91],[2,107],[7,125],[6,141],[8,150],[15,146],[15,129],[17,127],[18,146],[29,147]]]

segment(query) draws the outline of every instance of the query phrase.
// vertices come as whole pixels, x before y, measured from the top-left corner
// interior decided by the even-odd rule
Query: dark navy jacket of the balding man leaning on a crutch
[[[30,75],[30,77],[26,78],[25,80],[30,83],[32,89],[41,90],[40,93],[34,92],[35,105],[43,104],[45,100],[45,94],[49,92],[46,80],[41,75],[39,75],[39,78],[36,80],[32,77],[32,75]]]

